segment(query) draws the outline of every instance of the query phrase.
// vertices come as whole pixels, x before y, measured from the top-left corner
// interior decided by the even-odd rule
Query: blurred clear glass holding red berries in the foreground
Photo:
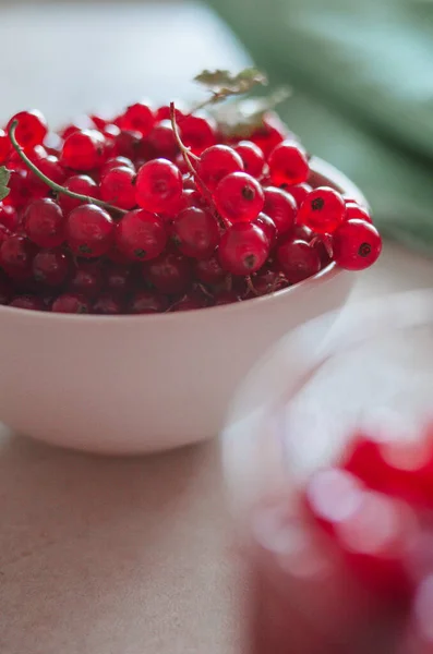
[[[245,654],[433,653],[433,293],[327,315],[251,373],[222,438]]]

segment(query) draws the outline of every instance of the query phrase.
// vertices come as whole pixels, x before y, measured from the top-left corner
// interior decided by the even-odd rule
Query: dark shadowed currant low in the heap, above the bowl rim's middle
[[[143,274],[160,293],[168,295],[187,292],[192,282],[191,263],[172,252],[165,252],[146,264]]]

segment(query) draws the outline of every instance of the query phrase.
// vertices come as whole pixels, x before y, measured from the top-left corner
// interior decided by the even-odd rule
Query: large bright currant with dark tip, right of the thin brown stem
[[[232,172],[217,185],[214,201],[218,213],[230,222],[250,222],[262,211],[263,189],[245,172]]]

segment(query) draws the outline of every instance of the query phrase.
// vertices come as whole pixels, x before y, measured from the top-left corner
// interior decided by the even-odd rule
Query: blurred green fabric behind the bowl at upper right
[[[384,233],[433,253],[433,1],[209,0],[294,95],[279,113],[369,198]]]

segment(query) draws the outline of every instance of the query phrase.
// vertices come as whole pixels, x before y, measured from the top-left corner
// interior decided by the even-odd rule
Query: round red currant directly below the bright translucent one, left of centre
[[[144,209],[129,211],[116,228],[116,246],[130,262],[157,257],[165,249],[167,238],[164,220]]]

